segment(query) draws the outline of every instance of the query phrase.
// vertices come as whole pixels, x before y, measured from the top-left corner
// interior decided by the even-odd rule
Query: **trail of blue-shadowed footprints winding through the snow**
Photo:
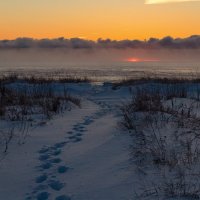
[[[105,106],[104,106],[105,107]],[[95,120],[103,117],[109,109],[101,109],[91,116],[85,116],[79,123],[73,125],[72,129],[66,133],[62,142],[55,143],[52,146],[44,146],[38,154],[40,165],[36,167],[38,176],[35,178],[32,192],[27,193],[25,200],[71,200],[70,195],[62,194],[66,183],[59,180],[59,175],[67,173],[71,168],[61,159],[62,152],[68,144],[76,144],[84,139],[87,134],[87,126]]]

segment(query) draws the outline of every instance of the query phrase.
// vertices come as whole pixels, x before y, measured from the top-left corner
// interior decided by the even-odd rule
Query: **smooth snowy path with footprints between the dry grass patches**
[[[112,107],[102,102],[85,101],[34,130],[21,153],[9,154],[1,166],[0,199],[132,199],[129,138],[119,134]]]

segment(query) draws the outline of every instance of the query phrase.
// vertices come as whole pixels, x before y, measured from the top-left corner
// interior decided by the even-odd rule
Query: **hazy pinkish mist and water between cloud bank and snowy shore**
[[[134,62],[130,62],[130,60]],[[198,49],[10,49],[0,50],[0,74],[118,80],[200,74]]]

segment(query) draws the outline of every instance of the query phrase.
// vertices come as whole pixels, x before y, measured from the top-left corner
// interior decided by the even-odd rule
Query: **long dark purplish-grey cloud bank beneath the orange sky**
[[[17,38],[15,40],[0,40],[0,49],[200,49],[200,35],[187,38],[149,40],[111,40],[98,39],[97,41],[80,38],[33,39]]]

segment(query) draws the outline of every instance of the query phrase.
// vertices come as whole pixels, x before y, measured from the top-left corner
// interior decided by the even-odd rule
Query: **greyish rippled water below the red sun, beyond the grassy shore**
[[[109,63],[0,63],[0,75],[19,74],[64,78],[66,76],[88,77],[97,81],[116,81],[140,77],[190,77],[200,75],[198,62],[109,62]]]

